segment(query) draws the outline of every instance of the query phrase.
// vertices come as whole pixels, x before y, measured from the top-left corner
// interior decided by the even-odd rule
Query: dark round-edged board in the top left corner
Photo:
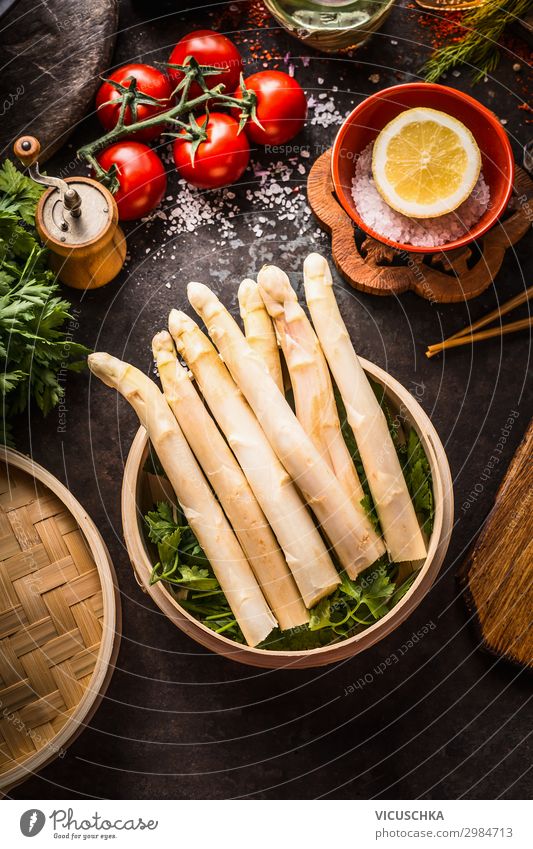
[[[0,150],[37,136],[44,162],[91,107],[111,62],[117,0],[18,0],[2,18]]]

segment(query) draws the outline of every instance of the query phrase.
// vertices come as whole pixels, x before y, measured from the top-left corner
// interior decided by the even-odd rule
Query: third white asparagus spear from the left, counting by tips
[[[340,581],[311,516],[205,333],[178,310],[170,313],[169,329],[270,522],[306,606],[312,607]]]

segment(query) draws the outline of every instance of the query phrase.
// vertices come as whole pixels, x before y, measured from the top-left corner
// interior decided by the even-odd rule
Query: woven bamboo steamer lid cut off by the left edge
[[[29,457],[0,448],[0,789],[91,719],[120,642],[116,576],[96,526]]]

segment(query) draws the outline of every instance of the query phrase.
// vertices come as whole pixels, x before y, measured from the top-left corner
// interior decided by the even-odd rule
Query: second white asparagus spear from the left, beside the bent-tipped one
[[[152,340],[165,398],[213,487],[255,577],[282,630],[309,621],[309,614],[274,534],[230,447],[178,362],[166,330]]]

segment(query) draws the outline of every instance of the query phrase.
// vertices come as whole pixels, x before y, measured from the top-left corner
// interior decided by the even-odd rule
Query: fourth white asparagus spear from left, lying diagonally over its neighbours
[[[376,544],[379,540],[370,537],[367,523],[214,292],[201,283],[189,283],[187,294],[274,451],[321,523],[340,563],[351,578],[355,577],[380,556],[381,545]]]

